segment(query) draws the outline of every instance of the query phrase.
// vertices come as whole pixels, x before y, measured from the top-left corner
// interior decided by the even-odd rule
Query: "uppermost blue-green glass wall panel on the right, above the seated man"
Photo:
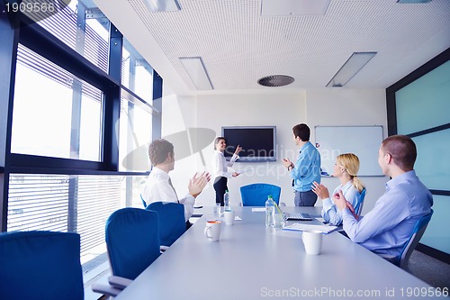
[[[450,123],[450,61],[397,91],[395,103],[399,134]]]

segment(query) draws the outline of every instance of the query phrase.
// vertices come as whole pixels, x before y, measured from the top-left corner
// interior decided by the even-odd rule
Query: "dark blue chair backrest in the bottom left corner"
[[[79,234],[0,233],[0,299],[83,298]]]

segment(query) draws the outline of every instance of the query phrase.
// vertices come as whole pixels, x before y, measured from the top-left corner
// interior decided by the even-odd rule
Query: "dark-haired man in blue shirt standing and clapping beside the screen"
[[[283,159],[284,167],[293,177],[295,206],[314,206],[317,195],[311,190],[314,181],[320,183],[320,153],[310,142],[310,127],[307,124],[293,126],[293,140],[300,146],[300,155],[295,164]]]

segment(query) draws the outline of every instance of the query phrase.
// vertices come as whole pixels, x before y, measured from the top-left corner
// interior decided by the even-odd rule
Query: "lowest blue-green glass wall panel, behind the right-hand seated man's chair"
[[[450,253],[450,232],[448,231],[448,212],[450,212],[450,196],[433,195],[435,213],[428,223],[427,231],[420,242],[437,250]]]

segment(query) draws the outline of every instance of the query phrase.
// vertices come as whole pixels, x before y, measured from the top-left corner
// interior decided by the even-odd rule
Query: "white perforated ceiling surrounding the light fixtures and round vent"
[[[450,0],[331,0],[325,15],[275,17],[261,16],[261,0],[178,0],[163,13],[142,0],[94,3],[178,95],[325,87],[358,51],[378,53],[343,88],[386,88],[450,47]],[[202,57],[214,89],[197,91],[180,57]],[[295,81],[257,85],[275,74]]]

